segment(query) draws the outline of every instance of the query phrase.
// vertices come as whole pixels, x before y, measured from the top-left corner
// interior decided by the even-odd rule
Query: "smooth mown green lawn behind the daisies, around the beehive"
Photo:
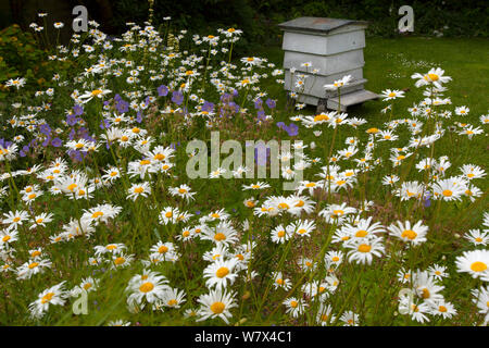
[[[271,62],[283,66],[284,52],[280,46],[256,47],[253,54],[266,57]],[[487,114],[487,88],[489,86],[489,40],[481,38],[431,38],[431,37],[401,37],[396,39],[367,37],[364,49],[364,77],[368,80],[366,89],[381,92],[389,89],[405,89],[405,98],[394,101],[394,117],[410,117],[408,108],[413,101],[422,100],[423,89],[414,86],[411,75],[425,73],[431,67],[440,66],[444,74],[452,77],[447,84],[446,97],[452,100],[455,107],[466,105],[469,114],[460,122],[480,126],[479,117]],[[272,85],[269,95],[281,96],[279,104],[286,99],[280,87]],[[281,102],[280,102],[281,101]],[[373,125],[381,125],[387,122],[387,116],[379,110],[388,103],[381,101],[368,101],[348,110],[349,115],[364,117]],[[303,114],[313,114],[314,107],[304,109]],[[469,151],[471,158],[478,165],[487,170],[489,163],[489,142],[487,134],[478,136],[471,141],[471,147],[459,149],[464,153]],[[440,152],[451,157],[456,149],[440,148]],[[456,152],[459,156],[459,152]],[[486,191],[488,184],[480,183]]]

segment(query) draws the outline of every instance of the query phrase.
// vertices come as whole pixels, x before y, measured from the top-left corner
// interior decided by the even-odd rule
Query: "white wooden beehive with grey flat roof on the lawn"
[[[340,101],[340,109],[346,111],[349,105],[378,98],[378,95],[364,89],[366,22],[300,17],[278,26],[284,30],[285,89],[296,91],[300,102],[337,110]],[[311,62],[312,67],[301,66],[305,62]],[[292,67],[296,69],[293,74],[290,72]],[[319,70],[317,74],[312,73],[314,69]],[[300,74],[308,77],[301,87],[296,87]],[[339,100],[336,90],[326,90],[323,86],[346,75],[353,79],[341,89]]]

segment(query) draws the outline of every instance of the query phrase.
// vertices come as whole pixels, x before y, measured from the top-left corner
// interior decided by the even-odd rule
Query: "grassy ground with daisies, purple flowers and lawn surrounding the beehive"
[[[466,125],[457,124],[487,127],[479,119],[487,113],[487,40],[368,38],[366,88],[409,88],[404,97],[367,102],[348,115],[316,115],[293,102],[290,108],[281,72],[274,74],[281,66],[279,47],[233,60],[229,51],[214,55],[209,48],[220,37],[215,47],[231,52],[226,33],[237,37],[235,30],[199,37],[198,45],[188,34],[177,45],[164,28],[138,30],[133,27],[109,48],[93,28],[80,38],[88,49],[76,42],[67,52],[59,50],[74,64],[59,72],[52,95],[33,97],[33,90],[11,84],[9,100],[17,104],[4,112],[2,136],[16,142],[3,141],[0,148],[2,324],[487,323],[489,302],[480,298],[488,296],[482,287],[488,271],[467,271],[489,263],[487,134],[468,139],[461,134]],[[76,47],[79,55],[73,57]],[[259,64],[258,57],[268,61]],[[424,99],[411,75],[438,66],[452,77],[443,92],[452,103],[434,107],[426,117],[410,114],[408,108]],[[381,113],[389,103],[392,112]],[[468,115],[440,116],[461,105],[471,109]],[[347,121],[352,117],[367,123],[353,126]],[[408,119],[423,126],[411,127]],[[298,134],[278,122],[294,123]],[[389,128],[399,136],[393,142],[373,135]],[[190,179],[187,145],[195,138],[209,145],[211,130],[242,144],[302,140],[304,181],[297,191],[284,191],[284,178]],[[437,134],[430,147],[409,146],[419,135]],[[355,154],[341,154],[353,137]],[[53,145],[53,138],[62,145]],[[331,158],[337,161],[327,165]],[[450,162],[450,167],[418,171],[415,165],[424,159]],[[464,164],[477,169],[462,177]],[[473,179],[472,171],[481,173]],[[322,182],[318,174],[333,177]],[[391,174],[398,184],[383,185]],[[443,179],[463,190],[448,192],[454,188],[441,186]],[[414,182],[419,187],[413,195],[401,186]],[[469,187],[476,191],[473,183],[479,189],[475,197],[467,194]],[[455,200],[449,200],[452,196]],[[52,214],[46,226],[37,221],[41,212]],[[403,224],[399,235],[398,222]],[[471,229],[479,229],[481,241],[466,238]],[[272,238],[274,233],[283,243]],[[223,288],[233,295],[223,299],[215,282],[226,276]],[[61,282],[61,289],[52,288]],[[72,304],[82,288],[88,290],[88,314],[75,315]],[[402,288],[417,307],[400,296]]]

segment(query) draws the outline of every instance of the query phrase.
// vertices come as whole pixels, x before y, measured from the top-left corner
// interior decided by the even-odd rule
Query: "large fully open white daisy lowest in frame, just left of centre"
[[[211,290],[208,295],[201,295],[197,300],[201,303],[198,311],[200,318],[197,321],[218,316],[226,324],[229,324],[229,319],[233,316],[229,310],[237,307],[234,297],[234,293],[227,293],[226,290],[223,293],[221,289]]]

